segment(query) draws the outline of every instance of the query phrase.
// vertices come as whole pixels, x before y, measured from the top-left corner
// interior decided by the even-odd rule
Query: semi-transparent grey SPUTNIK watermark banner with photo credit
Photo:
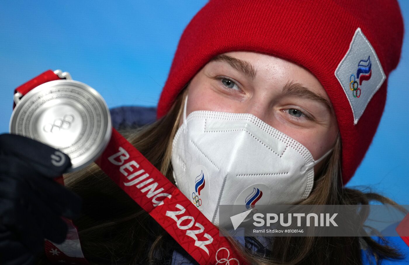
[[[219,213],[222,236],[409,236],[408,205],[220,205]]]

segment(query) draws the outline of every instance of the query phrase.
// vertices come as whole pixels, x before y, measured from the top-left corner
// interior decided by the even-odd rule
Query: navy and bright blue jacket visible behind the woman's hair
[[[110,110],[112,118],[112,126],[116,129],[131,129],[150,124],[156,119],[156,108],[150,107],[138,107],[138,106],[123,106],[118,108],[112,108]],[[396,249],[404,256],[402,260],[382,260],[381,265],[403,265],[409,264],[409,246],[398,236],[396,233],[396,225],[387,227],[382,234],[395,234],[395,236],[385,237],[389,244],[394,245]],[[379,237],[373,237],[380,243]],[[238,241],[245,245],[247,248],[252,249],[254,252],[258,252],[258,245],[252,243],[247,238],[239,238]],[[375,258],[369,255],[366,250],[362,252],[362,264],[370,265],[376,264]],[[196,265],[196,261],[191,258],[186,252],[181,250],[174,250],[173,254],[169,257],[168,262],[171,265]]]

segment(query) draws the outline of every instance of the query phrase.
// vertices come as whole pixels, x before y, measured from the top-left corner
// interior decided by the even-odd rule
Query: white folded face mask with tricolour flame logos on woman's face
[[[310,151],[248,113],[193,111],[172,143],[176,186],[214,224],[220,204],[295,204],[314,182]]]

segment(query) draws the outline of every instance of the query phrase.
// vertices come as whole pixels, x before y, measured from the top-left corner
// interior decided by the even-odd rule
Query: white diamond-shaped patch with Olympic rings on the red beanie
[[[373,95],[381,87],[386,76],[371,43],[357,28],[348,52],[335,70],[352,108],[354,124],[364,113]]]

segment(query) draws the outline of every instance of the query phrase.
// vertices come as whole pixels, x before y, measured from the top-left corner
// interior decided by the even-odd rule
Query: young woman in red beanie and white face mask
[[[215,224],[218,205],[235,204],[252,183],[267,187],[265,204],[393,204],[344,185],[380,121],[402,34],[396,1],[211,0],[180,39],[157,121],[121,133],[188,198],[195,166],[219,172],[209,173],[201,208]],[[207,118],[223,129],[208,124],[199,135]],[[293,173],[283,150],[310,161],[313,174]],[[273,157],[288,160],[267,165]],[[65,182],[83,199],[74,223],[92,264],[196,264],[95,164]],[[237,247],[251,264],[408,262],[369,237],[246,238]]]

